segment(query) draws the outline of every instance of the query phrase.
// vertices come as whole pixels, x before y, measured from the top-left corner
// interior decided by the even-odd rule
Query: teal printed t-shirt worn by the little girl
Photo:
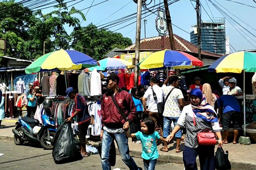
[[[143,134],[142,132],[137,132],[135,134],[137,139],[141,141],[142,145],[142,154],[141,157],[146,160],[157,159],[159,153],[157,151],[156,139],[160,139],[158,132],[154,132],[151,135]]]

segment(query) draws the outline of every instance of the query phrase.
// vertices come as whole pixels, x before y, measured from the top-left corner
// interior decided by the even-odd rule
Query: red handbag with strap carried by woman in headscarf
[[[194,125],[196,125],[195,114],[193,117]],[[197,134],[198,145],[216,145],[216,138],[213,132],[209,129]]]

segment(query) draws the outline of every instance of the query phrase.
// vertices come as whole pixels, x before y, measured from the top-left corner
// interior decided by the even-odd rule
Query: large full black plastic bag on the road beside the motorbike
[[[83,159],[76,149],[71,122],[63,122],[54,137],[53,159],[56,164],[69,163]]]

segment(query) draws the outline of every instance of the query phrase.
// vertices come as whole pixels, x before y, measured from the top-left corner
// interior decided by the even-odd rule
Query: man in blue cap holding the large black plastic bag
[[[66,98],[70,97],[71,99],[75,99],[75,108],[74,113],[71,117],[67,119],[67,121],[71,121],[78,114],[78,129],[79,129],[79,141],[82,144],[81,147],[81,155],[82,157],[88,157],[86,153],[86,134],[88,130],[88,126],[90,124],[90,115],[88,112],[88,106],[84,96],[77,94],[73,87],[69,87],[66,90]]]

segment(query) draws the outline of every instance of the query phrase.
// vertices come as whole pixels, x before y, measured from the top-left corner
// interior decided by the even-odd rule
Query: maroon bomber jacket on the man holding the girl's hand
[[[113,129],[123,128],[125,120],[116,108],[111,98],[112,95],[113,91],[106,92],[106,94],[103,95],[101,103],[102,128],[103,126]],[[114,98],[120,109],[122,109],[127,121],[131,124],[137,112],[131,95],[127,91],[119,89]]]

